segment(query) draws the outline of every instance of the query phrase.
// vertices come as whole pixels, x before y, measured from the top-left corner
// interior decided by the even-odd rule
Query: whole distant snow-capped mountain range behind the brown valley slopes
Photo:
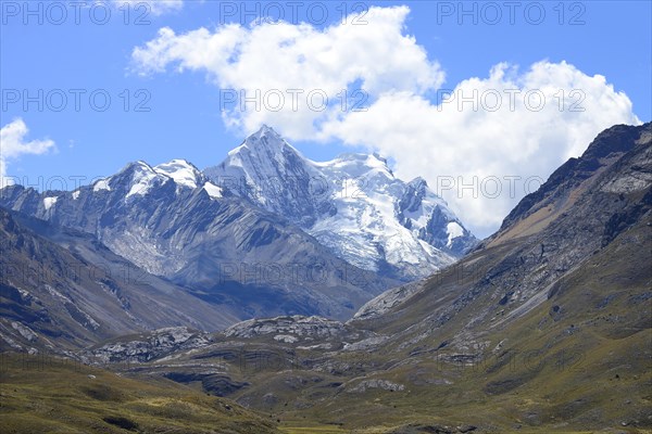
[[[476,243],[425,181],[397,179],[377,155],[311,162],[266,126],[203,173],[184,159],[136,162],[75,191],[10,186],[0,206],[7,225],[43,244],[35,252],[49,250],[30,258],[35,265],[74,267],[82,257],[86,268],[103,270],[121,257],[129,264],[123,268],[153,288],[184,294],[154,297],[166,299],[164,309],[177,310],[175,299],[190,296],[181,303],[187,320],[171,315],[151,322],[136,312],[138,292],[127,282],[122,305],[88,314],[102,330],[124,324],[115,335],[176,326],[214,331],[275,315],[344,320],[384,290],[453,263]],[[8,266],[24,263],[12,257],[13,247]],[[102,279],[93,277],[89,288],[102,289]],[[3,283],[14,292],[53,288],[48,281],[33,289],[10,276]],[[59,288],[75,284],[64,275]],[[92,296],[85,294],[89,305]],[[204,314],[192,312],[195,301]]]

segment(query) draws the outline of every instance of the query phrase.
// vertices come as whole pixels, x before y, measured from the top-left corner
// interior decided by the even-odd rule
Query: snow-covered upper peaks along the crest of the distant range
[[[429,276],[476,243],[424,179],[398,179],[378,154],[346,153],[313,162],[266,126],[203,173],[185,159],[158,166],[139,161],[90,187],[58,193],[59,197],[48,194],[40,209],[42,216],[57,210],[62,194],[83,204],[90,199],[88,203],[104,203],[111,196],[130,205],[151,199],[152,205],[197,189],[212,201],[240,196],[296,225],[330,254],[383,278],[411,281]],[[139,231],[142,228],[131,230],[134,239],[124,248],[142,244],[143,255],[158,255],[155,243]]]

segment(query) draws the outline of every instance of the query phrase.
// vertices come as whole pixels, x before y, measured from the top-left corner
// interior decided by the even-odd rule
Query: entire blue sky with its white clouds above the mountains
[[[82,9],[68,1],[1,3],[0,126],[22,119],[28,129],[17,144],[9,142],[15,135],[4,136],[2,161],[4,175],[17,177],[13,179],[22,183],[58,188],[49,180],[64,179],[66,187],[73,188],[74,179],[82,179],[78,177],[108,176],[136,159],[160,164],[183,157],[204,168],[220,163],[261,122],[286,135],[313,159],[330,159],[352,149],[379,151],[396,163],[398,175],[422,175],[430,187],[443,175],[447,179],[464,176],[460,183],[469,182],[474,174],[480,177],[479,182],[492,176],[544,178],[559,163],[586,148],[602,128],[651,118],[649,1],[280,1],[249,2],[246,9],[242,2],[210,0],[175,0],[163,7],[116,0],[100,5],[87,2]],[[409,9],[383,12],[401,5]],[[272,53],[272,60],[261,64],[236,59],[233,64],[216,66],[220,60],[205,59],[211,56],[213,46],[201,44],[203,39],[189,37],[185,40],[190,44],[183,46],[183,35],[197,37],[201,27],[208,35],[217,35],[230,23],[240,25],[234,35],[255,55],[262,44],[251,41],[265,38],[260,36],[263,28],[256,34],[249,24],[253,20],[250,12],[258,11],[272,17],[283,13],[287,28],[267,22],[258,26],[271,27],[267,35],[272,38],[304,23],[297,30],[299,38],[271,50],[284,50],[288,44],[294,53],[305,50],[305,62],[300,54],[296,64],[278,64]],[[358,24],[366,22],[360,26],[362,30],[358,29],[364,35],[341,37],[336,31],[338,25],[346,26],[340,24],[343,12],[349,14],[347,26],[353,16]],[[174,36],[163,38],[160,29],[164,27]],[[391,36],[392,31],[396,35]],[[220,38],[225,39],[222,34]],[[302,38],[315,44],[339,40],[340,44],[334,42],[334,47],[347,49],[325,50],[315,60],[310,43],[300,47],[301,40],[297,39]],[[167,43],[163,51],[147,46],[148,41],[163,39]],[[136,48],[140,48],[140,56],[134,55]],[[261,55],[269,55],[268,51]],[[324,77],[314,64],[302,69],[313,61],[321,64],[324,56],[343,59],[335,59],[331,64],[336,66]],[[355,64],[358,72],[347,75],[344,66],[337,66],[348,63]],[[496,68],[501,63],[503,66]],[[236,67],[243,73],[231,74],[228,69]],[[492,68],[494,75],[490,75]],[[358,78],[351,78],[356,74]],[[283,82],[286,75],[288,79]],[[595,79],[595,75],[604,80]],[[225,89],[260,86],[265,92],[267,87],[299,87],[308,92],[309,88],[321,88],[321,80],[328,82],[324,88],[329,89],[342,84],[350,103],[355,100],[353,91],[363,91],[367,95],[365,106],[371,110],[349,113],[333,108],[337,97],[329,91],[331,105],[318,116],[315,111],[291,113],[285,111],[286,106],[281,113],[266,106],[259,113],[237,113],[237,104],[231,104],[226,114],[222,111]],[[546,90],[550,105],[559,103],[551,100],[551,94],[561,95],[566,104],[577,102],[578,94],[570,98],[569,92],[579,90],[585,97],[579,105],[586,110],[568,113],[565,105],[566,111],[559,114],[546,107],[538,113],[529,111],[523,118],[513,111],[494,113],[484,105],[479,111],[469,108],[471,104],[456,106],[447,114],[455,105],[448,104],[438,111],[439,100],[448,94],[442,89],[460,90],[460,84],[464,84],[460,89],[468,91],[475,86],[480,94],[498,89],[503,97],[500,86],[516,85],[524,91],[556,86],[564,93]],[[65,102],[62,94],[66,95]],[[27,106],[25,95],[35,99]],[[75,95],[79,97],[78,106]],[[108,105],[105,95],[111,98]],[[40,148],[36,143],[33,152],[10,149],[34,140],[40,140]],[[513,158],[521,150],[523,158]],[[494,229],[527,192],[522,189],[497,200],[479,190],[485,202],[482,197],[474,202],[476,197],[469,194],[447,189],[441,194],[480,234]]]

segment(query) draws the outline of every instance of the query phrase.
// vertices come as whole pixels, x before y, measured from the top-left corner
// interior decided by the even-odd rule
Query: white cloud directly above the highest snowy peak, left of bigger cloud
[[[369,8],[366,25],[352,24],[351,18],[324,29],[263,22],[176,35],[165,27],[134,50],[134,68],[140,74],[164,72],[170,65],[179,72],[205,72],[223,95],[230,89],[243,90],[248,97],[258,91],[261,110],[253,103],[244,112],[238,104],[226,105],[225,122],[246,131],[267,123],[288,138],[300,139],[314,133],[314,124],[341,114],[338,93],[348,87],[360,84],[374,97],[390,90],[425,92],[441,85],[439,65],[428,61],[413,37],[403,35],[408,13],[406,7]],[[296,93],[296,106],[291,89],[303,92]],[[283,105],[276,90],[283,93]],[[324,91],[329,107],[311,110],[311,91]],[[313,97],[313,107],[321,107],[318,94]],[[265,110],[269,107],[279,108]]]

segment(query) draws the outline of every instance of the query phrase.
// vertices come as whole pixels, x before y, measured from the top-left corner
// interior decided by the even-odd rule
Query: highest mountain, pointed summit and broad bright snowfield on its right
[[[267,126],[204,174],[298,225],[340,258],[384,276],[428,276],[476,243],[424,179],[398,179],[377,154],[310,161]]]

